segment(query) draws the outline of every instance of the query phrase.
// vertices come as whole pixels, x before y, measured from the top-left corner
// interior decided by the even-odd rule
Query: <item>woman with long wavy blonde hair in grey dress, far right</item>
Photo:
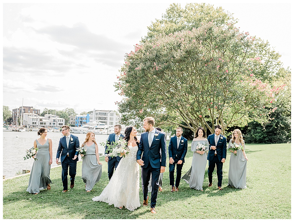
[[[239,150],[233,151],[232,149],[230,149],[233,143],[239,146],[243,146],[243,150],[239,149]],[[232,135],[232,138],[230,139],[228,149],[231,152],[228,186],[232,186],[238,189],[245,189],[246,188],[246,166],[247,166],[248,158],[245,153],[245,142],[243,140],[242,133],[239,129],[235,129],[233,131],[233,135]]]

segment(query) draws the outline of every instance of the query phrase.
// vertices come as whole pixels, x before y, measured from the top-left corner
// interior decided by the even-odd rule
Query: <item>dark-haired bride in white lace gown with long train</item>
[[[136,128],[128,126],[125,130],[124,140],[128,142],[126,151],[130,153],[119,161],[108,185],[100,196],[92,198],[93,201],[113,204],[120,209],[125,206],[130,211],[141,206],[139,200],[139,165],[136,161],[139,141],[136,136]]]

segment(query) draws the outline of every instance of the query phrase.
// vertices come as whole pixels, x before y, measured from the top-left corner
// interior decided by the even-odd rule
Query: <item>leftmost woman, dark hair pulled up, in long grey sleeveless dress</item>
[[[29,193],[38,194],[40,190],[50,190],[50,168],[52,164],[52,140],[47,138],[47,130],[42,127],[38,131],[39,139],[34,141],[34,148],[38,148],[37,154],[33,158],[34,161],[31,175],[29,179],[29,186],[26,189]]]

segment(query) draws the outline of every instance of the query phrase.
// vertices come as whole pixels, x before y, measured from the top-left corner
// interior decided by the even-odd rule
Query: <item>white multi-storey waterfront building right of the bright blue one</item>
[[[105,123],[107,126],[118,124],[120,114],[115,110],[93,110],[90,112],[90,122]]]

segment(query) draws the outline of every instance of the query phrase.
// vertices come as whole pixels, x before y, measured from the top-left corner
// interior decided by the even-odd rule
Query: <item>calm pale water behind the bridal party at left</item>
[[[86,134],[73,133],[78,136],[80,145],[85,141]],[[19,136],[18,138],[16,136]],[[61,132],[48,132],[47,137],[52,140],[52,165],[57,166],[56,152],[59,144],[59,139],[62,137]],[[34,132],[3,132],[3,175],[5,178],[16,176],[17,171],[31,169],[33,166],[34,159],[27,159],[24,161],[26,149],[34,146],[34,140],[38,139],[39,136],[36,131]],[[96,142],[98,144],[99,153],[104,152],[104,147],[100,146],[101,142],[105,142],[108,135],[95,135]],[[5,150],[9,150],[7,155]],[[5,155],[4,155],[5,153]]]

